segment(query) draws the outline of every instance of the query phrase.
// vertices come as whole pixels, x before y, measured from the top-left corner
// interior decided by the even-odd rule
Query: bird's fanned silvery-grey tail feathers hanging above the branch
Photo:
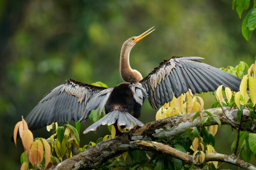
[[[86,130],[84,130],[84,134],[90,131],[97,130],[98,128],[100,128],[101,125],[112,125],[115,122],[117,122],[118,125],[124,126],[126,129],[132,129],[133,125],[144,125],[141,121],[130,115],[128,112],[123,110],[114,110],[112,112],[109,112],[97,122],[90,125]]]

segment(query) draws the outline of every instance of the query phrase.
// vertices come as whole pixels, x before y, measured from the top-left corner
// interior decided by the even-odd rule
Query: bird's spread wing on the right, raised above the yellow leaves
[[[172,101],[191,89],[192,93],[215,91],[225,85],[239,91],[241,79],[197,61],[201,57],[172,57],[164,60],[148,76],[140,81],[148,93],[148,100],[154,109]]]

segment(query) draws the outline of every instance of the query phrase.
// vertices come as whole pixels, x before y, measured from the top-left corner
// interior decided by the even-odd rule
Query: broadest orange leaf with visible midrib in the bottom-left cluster
[[[44,147],[40,140],[35,140],[30,148],[28,160],[34,166],[40,165],[44,156]]]

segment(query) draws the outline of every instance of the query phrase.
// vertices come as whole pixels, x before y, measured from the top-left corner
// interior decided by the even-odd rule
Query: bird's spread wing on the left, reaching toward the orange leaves
[[[35,130],[70,120],[85,122],[92,110],[99,108],[101,113],[112,90],[69,79],[38,102],[25,118],[28,128]]]

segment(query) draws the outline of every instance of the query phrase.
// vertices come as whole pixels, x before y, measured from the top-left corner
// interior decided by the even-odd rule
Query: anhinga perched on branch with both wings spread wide
[[[84,123],[92,110],[98,108],[101,114],[104,107],[106,115],[84,130],[84,133],[96,130],[100,125],[114,124],[117,128],[118,124],[133,128],[133,125],[143,125],[137,118],[141,115],[141,106],[146,98],[157,109],[171,101],[173,95],[179,97],[189,89],[193,94],[214,91],[220,85],[233,91],[239,90],[241,79],[199,62],[198,59],[203,59],[201,57],[171,57],[143,78],[140,72],[130,67],[129,55],[136,42],[154,31],[151,29],[123,43],[120,75],[125,82],[105,88],[69,79],[46,94],[33,108],[26,117],[29,129],[70,120]]]

